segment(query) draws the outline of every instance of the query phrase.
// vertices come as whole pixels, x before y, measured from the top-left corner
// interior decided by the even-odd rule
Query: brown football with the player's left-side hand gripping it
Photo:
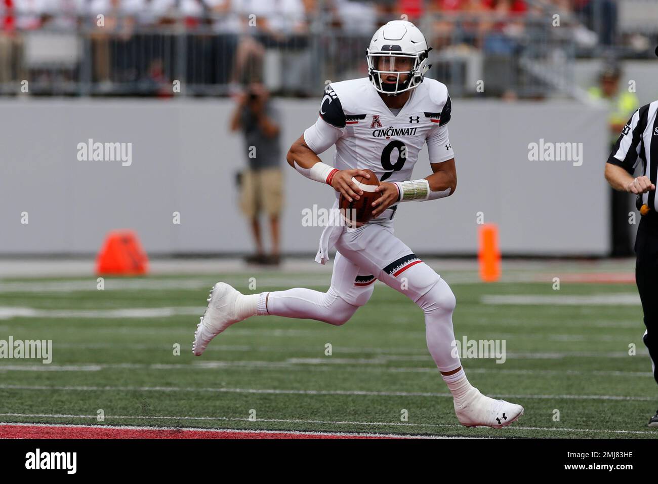
[[[370,178],[364,176],[366,173]],[[361,227],[372,219],[372,211],[375,209],[372,202],[382,196],[380,192],[374,191],[379,186],[379,180],[372,170],[340,171],[334,176],[332,186],[340,192],[338,207],[347,227]]]

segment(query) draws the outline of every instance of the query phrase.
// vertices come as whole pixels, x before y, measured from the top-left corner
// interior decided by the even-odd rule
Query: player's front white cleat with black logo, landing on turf
[[[509,425],[523,415],[523,407],[505,400],[494,400],[480,393],[473,387],[468,390],[466,403],[457,406],[455,403],[455,414],[461,425],[465,427],[493,427],[499,429]]]

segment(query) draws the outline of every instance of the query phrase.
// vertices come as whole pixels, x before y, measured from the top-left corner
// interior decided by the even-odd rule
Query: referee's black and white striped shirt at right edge
[[[642,175],[658,185],[658,101],[642,106],[633,113],[624,126],[615,144],[608,163],[622,167],[631,175],[635,167],[642,161]],[[656,205],[656,190],[650,190],[642,195],[642,203],[658,211]]]

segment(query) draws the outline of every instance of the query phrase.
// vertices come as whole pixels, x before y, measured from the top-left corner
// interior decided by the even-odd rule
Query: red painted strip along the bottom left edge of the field
[[[404,435],[0,423],[0,439],[405,439]]]

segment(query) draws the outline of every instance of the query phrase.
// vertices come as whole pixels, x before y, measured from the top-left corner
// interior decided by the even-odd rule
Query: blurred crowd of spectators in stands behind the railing
[[[318,38],[330,32],[336,35],[320,41],[333,49],[325,59],[363,70],[365,45],[387,20],[403,16],[417,23],[437,51],[466,45],[514,56],[529,22],[545,25],[551,13],[576,22],[590,45],[616,39],[617,0],[3,0],[0,84],[24,71],[22,36],[39,30],[86,36],[91,82],[101,87],[141,83],[153,94],[181,65],[187,84],[240,86],[262,81],[272,63],[288,63],[282,70],[292,75],[280,84],[301,94],[317,67],[311,43],[317,48]],[[592,32],[594,23],[599,34]],[[272,50],[286,55],[266,59]]]

